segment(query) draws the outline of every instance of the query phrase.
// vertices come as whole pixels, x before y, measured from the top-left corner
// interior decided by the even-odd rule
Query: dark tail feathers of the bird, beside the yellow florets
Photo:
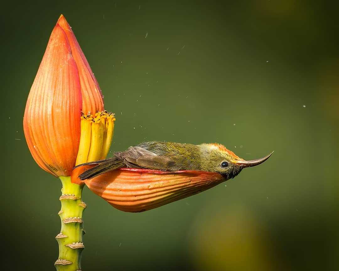
[[[107,160],[101,160],[101,161],[96,161],[96,162],[90,162],[86,164],[98,164],[97,166],[86,170],[85,172],[81,173],[79,175],[80,180],[85,180],[89,178],[93,178],[95,176],[101,175],[107,171],[115,170],[118,168],[122,168],[125,166],[124,163],[122,163],[120,160],[117,158],[110,158]],[[82,164],[84,165],[84,164]]]

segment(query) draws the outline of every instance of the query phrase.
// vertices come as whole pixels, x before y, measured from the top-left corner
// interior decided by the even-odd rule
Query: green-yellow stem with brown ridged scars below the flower
[[[55,262],[58,271],[81,270],[82,243],[82,212],[86,204],[81,201],[83,186],[72,184],[71,177],[60,177],[61,210],[58,213],[61,219],[60,233],[55,237],[59,244],[59,257]]]

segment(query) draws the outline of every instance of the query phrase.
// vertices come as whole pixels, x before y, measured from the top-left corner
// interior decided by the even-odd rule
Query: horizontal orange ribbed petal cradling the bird
[[[78,169],[83,172],[84,169]],[[216,186],[225,179],[205,171],[119,169],[84,180],[94,193],[125,212],[150,210]]]

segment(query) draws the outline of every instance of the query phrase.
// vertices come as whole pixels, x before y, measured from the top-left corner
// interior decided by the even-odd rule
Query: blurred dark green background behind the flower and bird
[[[263,165],[206,192],[124,213],[85,189],[83,270],[338,270],[339,23],[333,1],[53,1],[3,6],[2,248],[54,270],[61,184],[22,117],[64,14],[116,113],[111,151],[219,142]],[[36,121],[39,121],[38,119]]]

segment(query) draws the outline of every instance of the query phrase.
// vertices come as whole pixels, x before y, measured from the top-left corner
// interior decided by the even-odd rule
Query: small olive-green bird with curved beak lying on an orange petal
[[[80,174],[79,179],[93,178],[119,168],[141,168],[167,172],[216,172],[229,180],[237,176],[243,168],[263,163],[272,153],[260,159],[245,161],[218,143],[193,145],[150,141],[115,152],[112,158],[79,165],[96,165]]]

